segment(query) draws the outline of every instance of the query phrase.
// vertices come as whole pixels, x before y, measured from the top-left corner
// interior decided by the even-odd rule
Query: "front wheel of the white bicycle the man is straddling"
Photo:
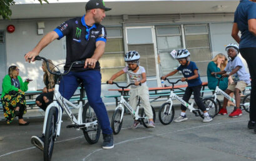
[[[51,107],[46,122],[44,139],[44,160],[51,160],[51,155],[53,154],[54,141],[56,138],[56,121],[56,107]]]

